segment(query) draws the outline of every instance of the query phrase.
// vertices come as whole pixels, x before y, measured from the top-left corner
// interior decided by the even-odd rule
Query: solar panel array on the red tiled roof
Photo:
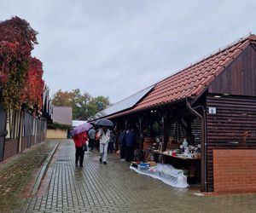
[[[142,91],[131,95],[128,98],[125,98],[123,101],[119,101],[118,103],[114,104],[111,107],[108,107],[107,109],[102,110],[101,112],[96,113],[95,118],[102,118],[108,115],[112,115],[116,112],[121,112],[126,109],[129,109],[131,107],[134,107],[138,101],[140,101],[145,95],[148,94],[148,92],[154,88],[153,86],[150,86],[146,89],[143,89]]]

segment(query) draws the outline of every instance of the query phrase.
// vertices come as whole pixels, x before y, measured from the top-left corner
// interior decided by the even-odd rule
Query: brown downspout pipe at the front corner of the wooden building
[[[188,98],[186,98],[186,107],[189,109],[189,112],[195,115],[195,117],[200,118],[201,121],[201,148],[203,148],[203,166],[204,166],[204,176],[201,176],[204,182],[204,187],[202,187],[202,190],[204,192],[207,192],[207,122],[206,122],[206,112],[205,108],[203,106],[197,106],[195,108],[201,107],[203,110],[203,115],[201,115],[199,112],[195,111],[195,108],[191,107],[191,103],[189,102]],[[202,165],[201,165],[202,169]]]

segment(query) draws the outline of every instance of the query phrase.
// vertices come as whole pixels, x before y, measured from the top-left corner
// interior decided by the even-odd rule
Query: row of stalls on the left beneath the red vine
[[[45,140],[47,119],[52,113],[46,87],[42,97],[42,112],[28,107],[7,112],[0,103],[0,162]]]

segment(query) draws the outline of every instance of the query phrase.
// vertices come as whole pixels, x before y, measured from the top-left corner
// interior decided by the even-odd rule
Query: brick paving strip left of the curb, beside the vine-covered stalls
[[[57,144],[58,141],[45,141],[0,164],[0,212],[19,205],[20,193],[27,196],[31,192],[33,179]]]

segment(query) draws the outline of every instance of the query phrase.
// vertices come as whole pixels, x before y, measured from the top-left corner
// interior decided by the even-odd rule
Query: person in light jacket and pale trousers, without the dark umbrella
[[[103,164],[107,164],[107,155],[108,155],[108,142],[110,139],[110,131],[107,126],[102,126],[102,128],[98,131],[98,135],[100,137],[100,162]]]

